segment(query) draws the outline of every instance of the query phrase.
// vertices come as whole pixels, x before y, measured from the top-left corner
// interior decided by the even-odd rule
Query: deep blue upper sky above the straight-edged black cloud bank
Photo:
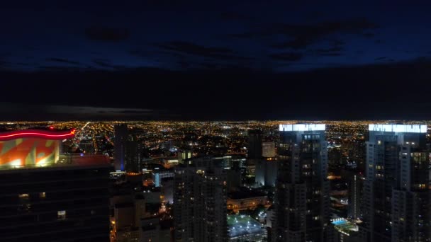
[[[408,62],[431,57],[430,6],[427,1],[16,1],[0,9],[0,69],[290,72]]]

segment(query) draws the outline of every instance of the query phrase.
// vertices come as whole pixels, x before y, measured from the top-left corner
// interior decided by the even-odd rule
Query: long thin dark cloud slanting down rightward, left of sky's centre
[[[199,57],[209,57],[214,59],[230,60],[230,59],[242,59],[250,60],[250,57],[242,57],[233,52],[228,48],[223,47],[205,47],[203,45],[196,45],[191,42],[184,41],[172,41],[162,44],[155,44],[162,50],[168,50],[179,54],[191,54]]]

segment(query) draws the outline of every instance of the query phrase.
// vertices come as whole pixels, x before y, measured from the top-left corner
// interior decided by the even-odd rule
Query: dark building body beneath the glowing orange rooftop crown
[[[0,169],[1,241],[108,241],[106,156]]]

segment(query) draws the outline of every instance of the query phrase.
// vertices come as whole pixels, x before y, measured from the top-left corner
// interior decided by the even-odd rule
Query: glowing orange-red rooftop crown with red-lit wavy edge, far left
[[[56,163],[62,139],[72,137],[74,129],[62,132],[26,129],[0,133],[0,168]]]

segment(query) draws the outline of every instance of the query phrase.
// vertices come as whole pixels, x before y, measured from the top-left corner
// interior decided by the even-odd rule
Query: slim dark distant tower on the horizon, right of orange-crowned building
[[[113,127],[114,132],[114,166],[116,171],[125,171],[125,153],[128,142],[128,129],[127,125],[115,125]]]

